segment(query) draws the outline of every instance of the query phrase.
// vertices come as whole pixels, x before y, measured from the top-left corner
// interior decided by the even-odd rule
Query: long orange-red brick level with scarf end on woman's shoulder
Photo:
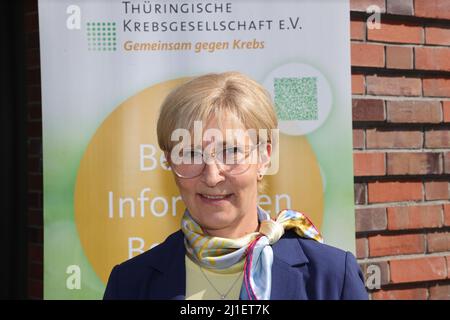
[[[387,208],[388,230],[439,228],[442,206],[399,206]]]

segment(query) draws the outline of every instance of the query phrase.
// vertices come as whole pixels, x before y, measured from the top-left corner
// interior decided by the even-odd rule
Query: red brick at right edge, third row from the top
[[[415,66],[422,70],[450,71],[450,48],[415,48]]]

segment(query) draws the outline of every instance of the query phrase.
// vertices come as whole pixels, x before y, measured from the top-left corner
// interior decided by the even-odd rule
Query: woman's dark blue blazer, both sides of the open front
[[[288,231],[273,246],[271,300],[367,299],[364,278],[350,252]],[[181,230],[113,268],[104,299],[185,299]]]

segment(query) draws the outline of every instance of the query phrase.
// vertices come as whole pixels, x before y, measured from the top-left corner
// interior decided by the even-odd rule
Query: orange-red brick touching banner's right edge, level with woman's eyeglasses
[[[386,174],[384,153],[354,153],[353,163],[355,176],[383,176]]]

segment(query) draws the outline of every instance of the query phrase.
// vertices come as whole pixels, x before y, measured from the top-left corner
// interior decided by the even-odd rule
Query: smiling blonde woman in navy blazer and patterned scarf
[[[257,206],[276,128],[269,94],[240,73],[172,91],[157,134],[187,208],[181,230],[114,267],[104,298],[367,299],[351,253],[322,244],[303,214],[272,220]]]

